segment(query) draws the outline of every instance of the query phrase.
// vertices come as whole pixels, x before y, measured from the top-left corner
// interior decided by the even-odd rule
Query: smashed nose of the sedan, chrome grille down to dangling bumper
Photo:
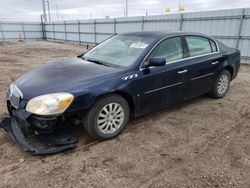
[[[7,94],[8,114],[0,127],[24,150],[35,155],[53,154],[76,147],[77,139],[65,127],[63,116],[40,116],[26,110],[28,101],[12,84]]]

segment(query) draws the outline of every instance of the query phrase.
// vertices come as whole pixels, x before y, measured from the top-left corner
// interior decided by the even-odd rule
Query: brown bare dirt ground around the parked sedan
[[[12,79],[83,51],[72,44],[0,43],[0,114]],[[0,130],[0,187],[249,187],[250,66],[241,66],[223,99],[203,96],[133,119],[113,140],[80,136],[75,150],[32,156]]]

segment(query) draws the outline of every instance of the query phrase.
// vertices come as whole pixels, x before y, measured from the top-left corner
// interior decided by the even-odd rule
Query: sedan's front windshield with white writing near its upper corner
[[[115,36],[84,54],[92,62],[115,67],[129,67],[153,41],[152,38]]]

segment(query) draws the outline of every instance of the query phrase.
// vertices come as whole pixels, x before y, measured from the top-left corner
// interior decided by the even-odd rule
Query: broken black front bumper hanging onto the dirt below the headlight
[[[28,116],[25,110],[15,110],[11,115],[6,114],[0,119],[0,128],[8,132],[24,151],[45,155],[76,147],[77,139],[72,137],[67,129],[38,131],[27,121]]]

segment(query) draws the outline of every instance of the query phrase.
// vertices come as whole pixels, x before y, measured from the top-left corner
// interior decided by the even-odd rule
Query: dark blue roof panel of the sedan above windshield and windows
[[[176,35],[195,35],[195,36],[202,36],[206,38],[211,38],[214,40],[213,37],[196,33],[196,32],[184,32],[184,31],[140,31],[140,32],[128,32],[128,33],[122,33],[120,34],[122,36],[137,36],[137,37],[149,37],[149,38],[155,38],[155,39],[161,39]]]

